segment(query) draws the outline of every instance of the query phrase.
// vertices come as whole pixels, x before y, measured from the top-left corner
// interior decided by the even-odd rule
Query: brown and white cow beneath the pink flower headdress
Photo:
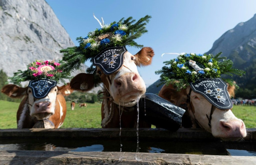
[[[1,92],[11,98],[22,98],[17,111],[17,128],[32,128],[37,122],[47,119],[54,124],[46,128],[59,128],[66,117],[66,101],[64,96],[70,94],[69,83],[53,87],[48,95],[35,99],[29,86],[22,88],[14,84],[3,86]],[[45,125],[46,126],[46,125]]]

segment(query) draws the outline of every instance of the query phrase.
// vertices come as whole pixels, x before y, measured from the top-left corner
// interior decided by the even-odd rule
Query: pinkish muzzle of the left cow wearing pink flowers
[[[53,105],[50,101],[35,102],[32,106],[30,116],[36,117],[38,120],[49,118],[54,114]]]

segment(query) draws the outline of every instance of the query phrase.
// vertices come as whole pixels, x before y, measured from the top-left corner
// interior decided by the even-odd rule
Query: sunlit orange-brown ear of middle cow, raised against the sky
[[[152,62],[152,58],[154,56],[154,51],[150,47],[144,47],[139,52],[136,53],[135,64],[137,66],[146,66],[150,65]]]

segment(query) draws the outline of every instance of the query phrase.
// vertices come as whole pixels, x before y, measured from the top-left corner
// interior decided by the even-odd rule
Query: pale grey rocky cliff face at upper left
[[[45,0],[0,1],[0,69],[13,76],[34,60],[62,58],[74,43]]]

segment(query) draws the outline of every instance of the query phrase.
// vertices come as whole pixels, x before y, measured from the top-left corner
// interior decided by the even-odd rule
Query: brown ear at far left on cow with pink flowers
[[[20,86],[14,85],[14,84],[8,84],[3,86],[1,89],[2,93],[5,93],[10,98],[22,98],[24,95],[26,95],[27,88],[22,88]]]

